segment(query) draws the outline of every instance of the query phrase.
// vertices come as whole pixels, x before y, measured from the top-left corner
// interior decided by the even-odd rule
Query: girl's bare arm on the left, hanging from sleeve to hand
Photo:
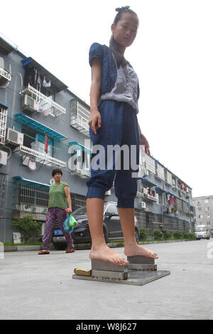
[[[90,118],[89,126],[94,134],[102,126],[102,117],[99,113],[98,102],[102,85],[102,64],[98,58],[92,60],[92,84],[90,88]]]

